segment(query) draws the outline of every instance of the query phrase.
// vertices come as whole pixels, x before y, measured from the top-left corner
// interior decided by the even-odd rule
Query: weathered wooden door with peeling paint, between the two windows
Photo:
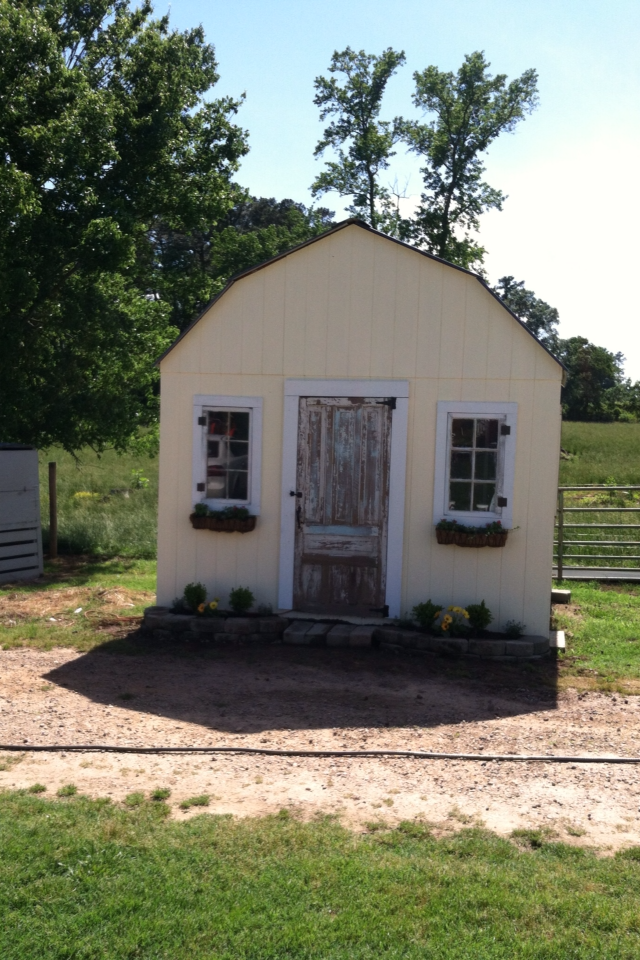
[[[392,402],[301,397],[294,607],[382,615]]]

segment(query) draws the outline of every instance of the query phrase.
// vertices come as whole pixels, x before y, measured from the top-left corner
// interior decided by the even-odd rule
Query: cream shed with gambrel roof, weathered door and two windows
[[[563,368],[481,278],[347,220],[159,363],[159,603],[198,580],[336,618],[484,599],[548,632]],[[234,506],[255,529],[224,529]],[[444,544],[443,520],[509,534]]]

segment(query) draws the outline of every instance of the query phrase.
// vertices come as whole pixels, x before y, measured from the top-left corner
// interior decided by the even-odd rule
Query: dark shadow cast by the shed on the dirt
[[[150,647],[137,634],[109,641],[46,679],[96,703],[244,734],[436,727],[549,710],[557,697],[551,660],[510,664],[281,645]]]

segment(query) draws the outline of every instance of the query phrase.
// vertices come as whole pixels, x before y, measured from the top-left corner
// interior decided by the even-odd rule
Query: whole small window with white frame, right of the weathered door
[[[515,403],[438,404],[436,523],[511,522],[516,413]]]

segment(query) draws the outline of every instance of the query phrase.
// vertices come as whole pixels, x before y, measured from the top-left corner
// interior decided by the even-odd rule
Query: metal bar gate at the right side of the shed
[[[640,580],[638,514],[640,486],[558,487],[553,576]]]

